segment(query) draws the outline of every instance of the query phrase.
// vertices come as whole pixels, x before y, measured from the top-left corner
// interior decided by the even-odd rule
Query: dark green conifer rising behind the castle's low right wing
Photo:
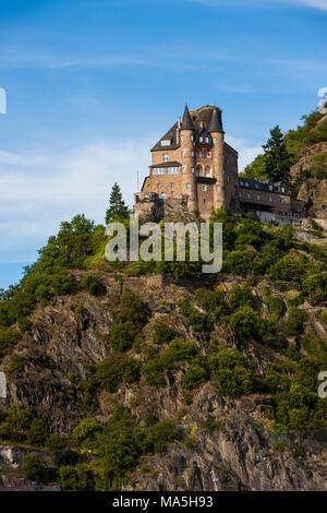
[[[263,148],[265,150],[265,167],[269,180],[288,183],[291,167],[290,155],[278,124],[270,130],[270,139]]]

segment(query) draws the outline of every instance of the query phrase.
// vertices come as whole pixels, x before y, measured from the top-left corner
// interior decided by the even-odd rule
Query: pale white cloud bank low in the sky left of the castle
[[[0,152],[0,260],[29,260],[33,240],[46,240],[77,213],[104,223],[114,181],[132,205],[152,143],[102,143],[39,156]]]

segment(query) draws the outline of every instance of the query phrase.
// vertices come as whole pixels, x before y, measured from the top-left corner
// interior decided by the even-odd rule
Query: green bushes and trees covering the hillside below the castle
[[[1,293],[1,363],[8,362],[11,379],[23,380],[28,358],[20,354],[17,343],[33,327],[37,306],[81,290],[101,301],[106,287],[94,270],[112,273],[120,284],[119,299],[106,306],[112,318],[106,358],[88,366],[87,378],[66,375],[66,396],[76,401],[82,396],[78,404],[84,413],[70,438],[50,433],[45,419],[20,404],[0,411],[0,441],[40,453],[26,456],[26,477],[59,482],[63,490],[117,489],[144,457],[165,453],[174,440],[192,449],[194,432],[182,429],[177,417],[157,418],[153,405],[144,416],[133,413],[144,390],[167,386],[168,379],[171,382],[177,375],[181,377],[185,407],[192,405],[199,387],[210,382],[226,399],[251,394],[272,397],[267,421],[274,430],[313,433],[327,427],[327,403],[317,395],[317,375],[327,367],[326,344],[303,308],[310,306],[326,322],[326,250],[295,240],[291,225],[264,226],[246,216],[232,217],[225,208],[214,210],[211,222],[223,224],[222,273],[235,281],[229,290],[215,288],[214,279],[211,287],[201,286],[202,262],[190,259],[108,263],[104,226],[77,215],[49,238],[21,283]],[[129,229],[129,219],[124,217],[123,223]],[[87,274],[78,283],[71,272],[75,269]],[[125,276],[153,273],[169,274],[177,284],[187,278],[194,285],[177,301],[174,324],[170,315],[153,319],[148,299],[123,286]],[[254,284],[262,281],[265,286],[258,300]],[[73,303],[71,311],[87,315],[81,305]],[[223,332],[223,342],[217,330]],[[229,337],[233,348],[226,346]],[[249,347],[256,350],[249,351]],[[255,358],[259,350],[271,358]],[[55,369],[47,356],[43,365]],[[131,409],[121,404],[124,387],[134,394]],[[110,409],[101,422],[97,420],[100,396]],[[207,426],[216,429],[210,420]]]

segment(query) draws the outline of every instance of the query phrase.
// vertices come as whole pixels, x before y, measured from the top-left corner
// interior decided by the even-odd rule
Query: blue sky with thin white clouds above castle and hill
[[[327,86],[327,0],[1,2],[0,288],[61,220],[132,203],[184,104],[223,109],[240,168]]]

